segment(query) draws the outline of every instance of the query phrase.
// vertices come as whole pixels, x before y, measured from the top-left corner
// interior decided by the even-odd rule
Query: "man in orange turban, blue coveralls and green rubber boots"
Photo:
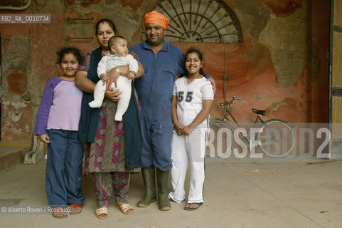
[[[171,161],[171,98],[175,76],[186,73],[180,48],[164,40],[170,19],[157,11],[144,16],[146,41],[131,46],[139,56],[145,73],[136,78],[142,130],[141,172],[145,195],[137,206],[148,207],[156,201],[156,182],[160,210],[171,209],[167,195]]]

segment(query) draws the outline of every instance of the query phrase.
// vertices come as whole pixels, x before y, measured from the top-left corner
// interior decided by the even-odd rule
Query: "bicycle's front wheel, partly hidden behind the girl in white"
[[[234,146],[233,130],[223,120],[210,120],[210,132],[208,135],[205,155],[207,157],[229,157]]]

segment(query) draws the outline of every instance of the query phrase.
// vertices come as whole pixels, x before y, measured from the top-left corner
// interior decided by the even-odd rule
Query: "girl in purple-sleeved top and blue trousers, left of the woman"
[[[80,193],[83,147],[78,138],[82,90],[75,86],[82,56],[78,48],[62,48],[57,54],[63,74],[46,85],[34,135],[48,143],[46,196],[53,207],[53,217],[65,218],[67,212],[79,214],[84,202]]]

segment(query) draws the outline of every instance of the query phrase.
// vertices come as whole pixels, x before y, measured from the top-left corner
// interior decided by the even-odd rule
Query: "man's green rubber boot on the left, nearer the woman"
[[[138,203],[138,207],[149,207],[151,202],[156,201],[156,175],[154,166],[141,169],[142,179],[145,185],[145,195]]]

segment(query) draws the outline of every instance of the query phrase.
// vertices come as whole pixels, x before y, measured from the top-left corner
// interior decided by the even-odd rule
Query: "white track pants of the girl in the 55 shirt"
[[[172,133],[171,182],[173,191],[169,193],[169,196],[178,203],[186,198],[184,182],[188,164],[190,164],[188,203],[203,202],[205,140],[208,128],[206,124],[200,126],[190,135],[178,136],[176,130]]]

